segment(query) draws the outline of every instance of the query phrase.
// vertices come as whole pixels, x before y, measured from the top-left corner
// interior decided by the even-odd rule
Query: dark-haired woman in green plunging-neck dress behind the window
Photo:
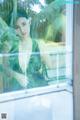
[[[30,36],[31,19],[24,11],[19,12],[15,23],[15,31],[20,38],[19,44],[10,50],[9,66],[13,80],[11,89],[33,88],[48,85],[45,80],[45,64],[52,67],[46,45]]]

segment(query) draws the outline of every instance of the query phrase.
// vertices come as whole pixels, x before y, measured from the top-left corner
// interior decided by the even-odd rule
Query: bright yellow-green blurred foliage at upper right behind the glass
[[[65,27],[65,16],[59,14],[58,17],[47,27],[46,40],[61,41],[62,31]],[[60,35],[60,36],[59,36]]]

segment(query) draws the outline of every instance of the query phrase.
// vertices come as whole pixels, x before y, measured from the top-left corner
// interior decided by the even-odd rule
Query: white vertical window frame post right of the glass
[[[66,77],[72,79],[73,5],[66,4]]]

